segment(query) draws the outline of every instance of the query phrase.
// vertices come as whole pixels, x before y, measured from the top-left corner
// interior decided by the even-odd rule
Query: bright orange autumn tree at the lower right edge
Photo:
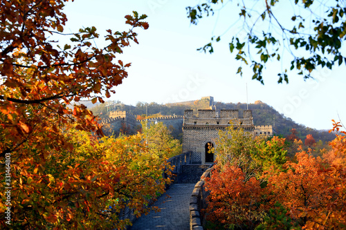
[[[325,166],[305,151],[297,162],[287,162],[287,171],[271,171],[267,191],[269,200],[289,209],[289,216],[304,229],[342,229],[346,225],[345,169]],[[269,202],[270,203],[270,202]]]

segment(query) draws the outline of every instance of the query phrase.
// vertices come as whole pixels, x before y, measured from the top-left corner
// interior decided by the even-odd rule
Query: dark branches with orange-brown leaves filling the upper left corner
[[[24,143],[39,149],[46,145],[60,150],[69,145],[63,129],[77,122],[79,129],[101,133],[93,114],[83,105],[73,110],[67,105],[81,98],[103,102],[112,89],[127,77],[126,68],[117,59],[129,41],[136,40],[134,28],[147,28],[145,16],[127,16],[127,32],[107,30],[109,45],[96,48],[96,28],[64,34],[65,1],[5,1],[1,6],[1,157],[19,151]],[[50,36],[71,36],[71,44],[56,44]],[[22,151],[22,149],[21,149]],[[25,153],[22,153],[25,155]]]

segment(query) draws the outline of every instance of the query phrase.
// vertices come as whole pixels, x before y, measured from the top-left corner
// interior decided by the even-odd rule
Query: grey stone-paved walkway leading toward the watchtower
[[[195,184],[172,184],[155,202],[161,212],[151,211],[134,222],[131,230],[189,230],[189,201]],[[167,198],[167,195],[171,198]]]

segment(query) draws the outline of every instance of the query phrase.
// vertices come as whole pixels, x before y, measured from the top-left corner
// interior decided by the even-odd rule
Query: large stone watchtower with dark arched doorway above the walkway
[[[194,115],[192,110],[185,110],[183,121],[183,153],[192,151],[194,164],[212,163],[215,160],[213,153],[208,153],[209,146],[215,146],[219,137],[219,130],[230,126],[241,126],[245,131],[253,132],[252,112],[246,110],[239,116],[237,110],[199,110]]]

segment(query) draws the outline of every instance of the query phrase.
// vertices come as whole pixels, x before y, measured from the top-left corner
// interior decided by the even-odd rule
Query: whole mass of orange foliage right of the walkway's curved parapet
[[[338,122],[333,131],[340,131]],[[239,229],[346,229],[346,132],[330,146],[323,160],[300,147],[282,171],[271,166],[257,175],[264,189],[255,178],[244,182],[241,169],[217,165],[206,179],[206,220]]]

